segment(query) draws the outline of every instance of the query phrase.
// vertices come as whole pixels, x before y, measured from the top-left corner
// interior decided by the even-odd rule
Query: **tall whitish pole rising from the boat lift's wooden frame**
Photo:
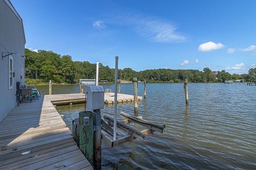
[[[116,110],[117,110],[117,74],[118,74],[118,56],[116,56],[116,69],[115,69],[115,97],[114,97],[114,136],[113,141],[116,141]]]

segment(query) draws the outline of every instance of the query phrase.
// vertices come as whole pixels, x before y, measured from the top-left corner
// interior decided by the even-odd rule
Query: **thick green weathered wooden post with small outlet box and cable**
[[[89,117],[89,125],[84,126],[84,117]],[[80,129],[80,150],[86,159],[93,165],[93,118],[92,111],[79,112],[79,129]]]

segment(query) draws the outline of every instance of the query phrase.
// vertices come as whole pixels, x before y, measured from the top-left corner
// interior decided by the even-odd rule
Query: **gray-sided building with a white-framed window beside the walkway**
[[[0,0],[0,122],[17,105],[17,82],[25,81],[25,43],[21,17],[10,0]]]

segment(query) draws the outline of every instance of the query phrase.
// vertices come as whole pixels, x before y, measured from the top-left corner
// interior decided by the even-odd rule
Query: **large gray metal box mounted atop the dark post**
[[[88,109],[96,110],[104,108],[104,90],[102,86],[87,86],[86,106]]]

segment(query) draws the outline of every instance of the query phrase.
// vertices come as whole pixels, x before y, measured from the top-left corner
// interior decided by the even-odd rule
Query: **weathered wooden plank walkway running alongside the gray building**
[[[1,170],[93,170],[50,102],[54,98],[76,99],[77,95],[46,95],[33,98],[32,103],[23,100],[0,123]]]

